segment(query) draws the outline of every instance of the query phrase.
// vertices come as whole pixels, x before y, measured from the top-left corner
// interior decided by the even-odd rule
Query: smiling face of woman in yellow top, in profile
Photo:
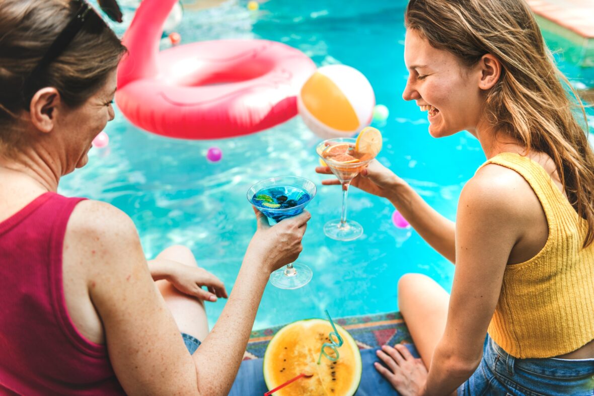
[[[411,29],[406,31],[405,63],[409,78],[402,97],[428,111],[429,134],[437,138],[466,130],[476,135],[484,104],[480,67],[467,68]]]

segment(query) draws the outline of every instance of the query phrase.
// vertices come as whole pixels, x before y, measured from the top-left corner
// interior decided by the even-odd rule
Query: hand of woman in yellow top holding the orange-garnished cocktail
[[[315,168],[315,172],[322,175],[332,175],[330,168],[327,166],[318,166]],[[326,179],[322,180],[322,184],[340,185],[340,180]],[[356,188],[384,198],[390,198],[397,186],[405,184],[406,182],[403,179],[396,176],[394,172],[383,166],[378,160],[369,162],[369,165],[350,182],[350,185]]]

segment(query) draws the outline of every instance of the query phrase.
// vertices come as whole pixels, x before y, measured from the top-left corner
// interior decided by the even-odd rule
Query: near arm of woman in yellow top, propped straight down
[[[456,272],[444,335],[429,366],[425,395],[455,391],[478,367],[508,257],[524,226],[515,205],[514,186],[507,180],[485,178],[484,170],[481,173],[466,184],[460,196]]]

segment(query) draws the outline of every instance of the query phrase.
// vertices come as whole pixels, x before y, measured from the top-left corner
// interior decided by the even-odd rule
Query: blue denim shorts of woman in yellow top
[[[487,337],[481,364],[458,395],[594,395],[594,359],[516,359]]]

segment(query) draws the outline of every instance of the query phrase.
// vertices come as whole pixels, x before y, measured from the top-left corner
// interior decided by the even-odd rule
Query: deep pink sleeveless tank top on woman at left
[[[83,199],[48,192],[0,222],[0,395],[124,394],[64,299],[64,235]]]

